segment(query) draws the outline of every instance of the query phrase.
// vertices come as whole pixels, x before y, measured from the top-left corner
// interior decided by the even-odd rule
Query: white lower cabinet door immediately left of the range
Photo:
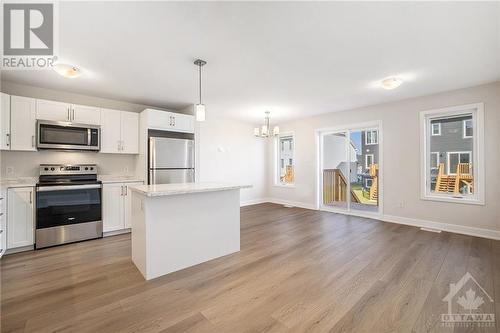
[[[7,192],[7,248],[33,245],[34,189],[20,187]]]

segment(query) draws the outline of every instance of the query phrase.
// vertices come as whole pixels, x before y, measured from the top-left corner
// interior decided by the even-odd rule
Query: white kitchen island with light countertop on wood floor
[[[132,261],[146,280],[240,250],[240,189],[249,185],[138,185]]]

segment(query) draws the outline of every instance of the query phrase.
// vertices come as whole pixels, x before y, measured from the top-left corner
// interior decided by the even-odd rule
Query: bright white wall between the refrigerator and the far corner
[[[197,124],[198,180],[252,185],[241,191],[243,204],[266,197],[266,142],[253,136],[253,127],[209,114]]]

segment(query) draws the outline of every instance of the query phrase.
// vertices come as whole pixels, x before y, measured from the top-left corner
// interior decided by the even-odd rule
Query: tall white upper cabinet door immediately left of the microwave
[[[10,97],[10,149],[35,151],[35,99]]]

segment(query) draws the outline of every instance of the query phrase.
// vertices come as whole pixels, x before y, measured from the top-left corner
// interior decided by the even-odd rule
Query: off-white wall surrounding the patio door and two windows
[[[421,200],[419,111],[477,102],[485,103],[486,204]],[[269,197],[316,207],[315,130],[377,120],[383,126],[384,215],[500,230],[500,82],[280,124],[283,132],[295,133],[295,188],[269,184]],[[268,177],[272,176],[273,158],[269,145]]]

